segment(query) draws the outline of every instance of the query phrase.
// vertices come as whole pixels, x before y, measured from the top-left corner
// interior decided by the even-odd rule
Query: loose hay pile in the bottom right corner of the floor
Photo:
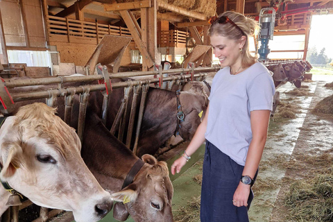
[[[333,175],[294,182],[285,204],[296,221],[333,221]]]

